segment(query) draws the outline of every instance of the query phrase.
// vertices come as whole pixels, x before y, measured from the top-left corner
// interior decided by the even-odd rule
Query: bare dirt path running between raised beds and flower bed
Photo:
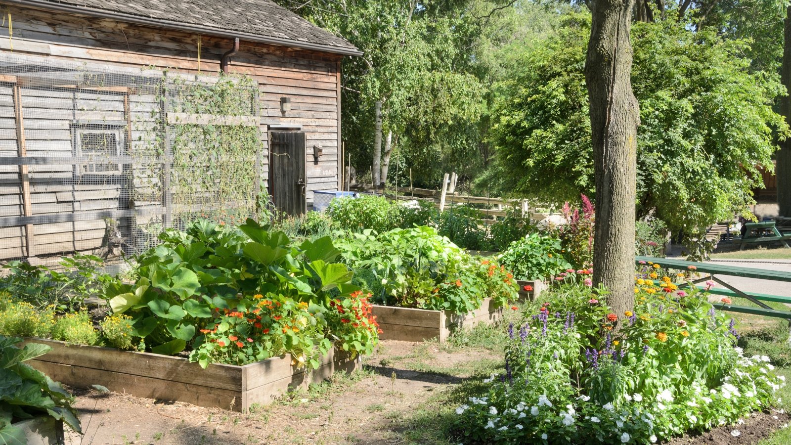
[[[437,344],[387,340],[365,371],[248,414],[75,391],[85,435],[72,433],[66,443],[403,443],[403,420],[415,409],[500,359],[485,349],[443,352]]]

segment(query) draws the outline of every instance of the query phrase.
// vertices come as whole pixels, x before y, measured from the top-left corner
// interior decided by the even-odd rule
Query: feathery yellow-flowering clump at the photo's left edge
[[[55,324],[52,306],[37,308],[8,294],[0,295],[0,334],[47,338]]]

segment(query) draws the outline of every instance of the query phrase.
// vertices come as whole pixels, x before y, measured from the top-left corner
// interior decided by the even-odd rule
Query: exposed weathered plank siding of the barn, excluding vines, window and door
[[[212,75],[233,40],[187,32],[146,28],[93,17],[71,16],[9,6],[13,39],[0,28],[0,52],[46,56],[51,59],[107,63],[117,67],[157,67],[188,74]],[[307,134],[308,206],[313,191],[335,190],[339,184],[339,64],[340,56],[315,51],[241,42],[229,65],[232,73],[247,74],[259,83],[261,175],[268,177],[269,125],[293,124]],[[2,79],[0,79],[2,80]],[[28,156],[71,156],[70,123],[76,119],[124,120],[122,94],[51,91],[21,88],[24,135]],[[280,111],[280,98],[290,97],[291,110]],[[153,97],[130,95],[131,119],[142,121],[155,106]],[[75,111],[76,110],[76,111]],[[81,116],[75,116],[75,113]],[[131,132],[131,147],[138,134]],[[312,147],[324,154],[316,161]],[[11,84],[0,83],[0,156],[18,156]],[[32,215],[127,208],[118,184],[63,184],[73,165],[30,165]],[[0,217],[24,216],[19,169],[0,166]],[[111,181],[108,181],[111,182]],[[57,222],[33,227],[44,236],[32,252],[25,249],[25,226],[0,227],[0,260],[47,256],[97,249],[104,238],[102,219]],[[60,235],[59,235],[60,234]]]

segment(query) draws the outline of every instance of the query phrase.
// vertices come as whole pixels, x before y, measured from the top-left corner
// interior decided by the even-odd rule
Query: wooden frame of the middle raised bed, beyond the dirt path
[[[373,305],[381,340],[425,341],[448,339],[455,329],[469,329],[479,323],[494,323],[502,318],[502,307],[495,307],[492,299],[470,314],[456,314],[450,310],[411,309],[408,307]]]

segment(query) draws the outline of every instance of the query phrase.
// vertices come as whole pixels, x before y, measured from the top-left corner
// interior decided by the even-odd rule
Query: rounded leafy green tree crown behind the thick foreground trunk
[[[570,200],[592,192],[589,15],[566,17],[559,36],[524,56],[498,93],[490,179],[502,192]],[[696,32],[673,17],[633,28],[632,85],[640,103],[638,216],[692,230],[747,211],[759,165],[787,127],[772,109],[774,73],[751,70],[743,40]],[[529,69],[528,69],[529,67]]]

